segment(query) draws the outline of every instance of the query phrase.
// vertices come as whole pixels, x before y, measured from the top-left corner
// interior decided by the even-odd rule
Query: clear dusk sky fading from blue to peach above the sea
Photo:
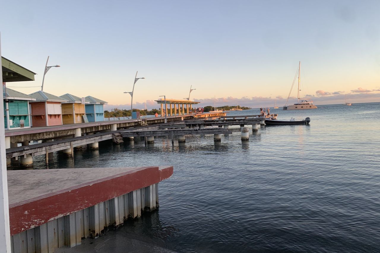
[[[4,4],[3,4],[4,6]],[[380,101],[380,1],[12,1],[0,13],[3,57],[44,91],[110,107],[158,108],[160,95],[201,106],[283,106],[301,61],[315,104]],[[293,89],[289,104],[296,100]],[[136,104],[135,104],[136,103]]]

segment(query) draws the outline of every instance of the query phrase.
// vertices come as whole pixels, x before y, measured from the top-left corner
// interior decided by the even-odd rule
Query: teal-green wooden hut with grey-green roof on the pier
[[[29,128],[29,101],[36,99],[22,92],[5,88],[4,120],[5,130]]]

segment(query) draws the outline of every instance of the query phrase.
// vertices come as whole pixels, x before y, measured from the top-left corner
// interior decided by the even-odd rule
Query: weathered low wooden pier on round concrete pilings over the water
[[[173,117],[173,119],[176,119]],[[160,119],[158,119],[160,120]],[[260,124],[263,118],[249,118],[241,117],[241,119],[191,119],[191,120],[177,120],[176,122],[169,123],[156,123],[157,118],[152,118],[151,123],[156,123],[148,126],[140,126],[135,124],[135,127],[126,128],[125,124],[136,123],[136,120],[122,120],[121,122],[92,122],[85,124],[73,124],[55,126],[52,128],[44,127],[38,129],[28,129],[12,131],[12,136],[15,139],[20,136],[15,135],[20,133],[25,136],[41,137],[43,135],[49,135],[51,139],[43,139],[42,143],[30,144],[29,141],[23,141],[22,146],[11,147],[11,143],[8,143],[6,149],[6,158],[8,164],[11,163],[11,158],[21,160],[21,165],[24,167],[32,166],[33,157],[38,155],[46,156],[46,163],[49,162],[49,153],[63,150],[67,155],[74,154],[74,148],[81,147],[83,145],[90,145],[91,148],[98,148],[98,142],[113,140],[117,144],[123,142],[123,138],[142,138],[147,143],[154,142],[155,136],[167,136],[174,142],[174,137],[177,137],[179,142],[185,142],[186,135],[197,134],[214,134],[215,140],[220,141],[221,134],[232,134],[233,132],[242,132],[246,125],[252,125],[252,130],[257,131],[260,128]],[[78,128],[78,125],[84,126]],[[230,126],[240,126],[240,128],[230,128]],[[118,129],[118,126],[120,128]],[[100,130],[101,128],[105,130]],[[109,128],[110,127],[110,128]],[[62,129],[64,128],[64,129]],[[93,130],[100,130],[94,131]],[[46,132],[48,131],[48,132]],[[54,133],[58,132],[58,134]],[[62,136],[62,131],[67,131],[65,136]],[[30,133],[32,132],[32,133]],[[244,132],[245,133],[245,132]],[[85,135],[82,135],[85,134]],[[52,136],[58,135],[58,138]],[[74,136],[74,137],[73,137]],[[8,137],[9,138],[9,137]],[[22,139],[21,138],[21,139]],[[38,141],[39,139],[33,139]],[[245,137],[245,140],[247,138]]]

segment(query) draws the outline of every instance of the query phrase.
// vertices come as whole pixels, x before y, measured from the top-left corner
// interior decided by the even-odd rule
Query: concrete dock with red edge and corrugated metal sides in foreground
[[[8,171],[13,253],[52,253],[158,207],[173,167]]]

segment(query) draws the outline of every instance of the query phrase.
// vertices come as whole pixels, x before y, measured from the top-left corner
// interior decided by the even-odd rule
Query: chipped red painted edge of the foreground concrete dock
[[[9,206],[11,235],[167,179],[170,167],[143,167]]]

